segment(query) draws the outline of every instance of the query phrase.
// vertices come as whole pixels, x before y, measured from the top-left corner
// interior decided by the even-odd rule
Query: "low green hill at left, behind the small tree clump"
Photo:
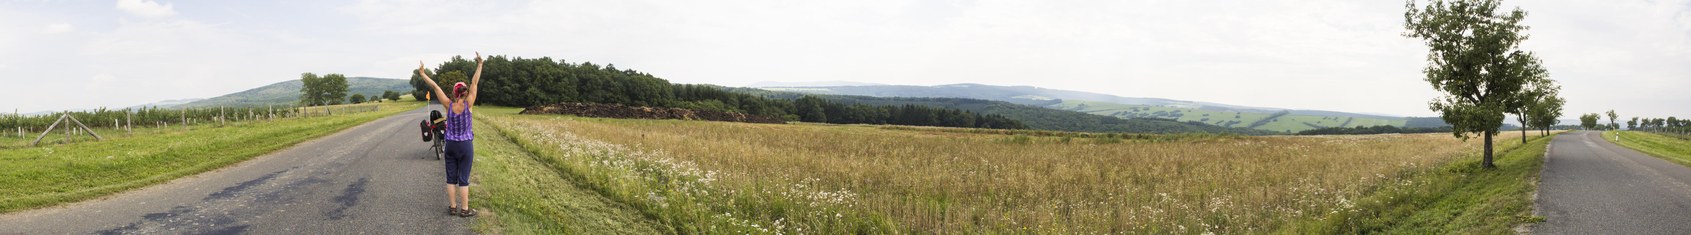
[[[267,105],[293,105],[299,101],[299,79],[289,79],[282,83],[265,85],[238,93],[230,93],[223,96],[198,100],[178,105],[181,108],[198,108],[198,107],[267,107]],[[411,93],[411,79],[389,79],[389,78],[369,78],[353,76],[347,78],[347,96],[362,93],[364,96],[382,95],[382,91]]]

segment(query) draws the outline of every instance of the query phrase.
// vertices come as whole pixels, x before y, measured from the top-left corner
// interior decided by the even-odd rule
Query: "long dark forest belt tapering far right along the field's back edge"
[[[451,57],[426,71],[441,85],[467,81],[475,61]],[[436,76],[440,74],[440,76]],[[413,74],[411,85],[428,91],[426,81]],[[445,86],[443,86],[445,88]],[[419,98],[421,93],[416,93]],[[1229,128],[1202,122],[1167,118],[1116,118],[1081,112],[1052,110],[974,98],[881,98],[846,95],[807,95],[715,85],[673,85],[614,64],[565,63],[551,57],[489,56],[482,68],[479,103],[531,107],[545,103],[617,103],[629,107],[700,108],[769,115],[795,122],[888,123],[974,128],[1037,128],[1060,132],[1119,134],[1248,134],[1282,132]],[[1060,100],[1053,100],[1060,101]]]

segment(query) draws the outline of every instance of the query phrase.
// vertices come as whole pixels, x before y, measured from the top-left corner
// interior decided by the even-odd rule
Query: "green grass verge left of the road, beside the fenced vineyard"
[[[83,201],[200,174],[423,107],[416,101],[380,105],[382,112],[225,127],[189,125],[189,130],[162,128],[135,137],[113,134],[100,142],[0,150],[0,213]]]

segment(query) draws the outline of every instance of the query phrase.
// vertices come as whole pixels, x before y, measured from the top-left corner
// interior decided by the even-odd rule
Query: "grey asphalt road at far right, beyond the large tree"
[[[1535,235],[1691,235],[1691,167],[1639,154],[1600,132],[1551,140]],[[1625,139],[1622,139],[1625,140]]]

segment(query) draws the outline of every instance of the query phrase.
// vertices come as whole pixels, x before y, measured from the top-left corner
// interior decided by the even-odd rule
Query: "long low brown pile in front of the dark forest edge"
[[[715,110],[622,107],[609,103],[534,105],[524,108],[521,115],[577,115],[577,117],[599,117],[599,118],[678,118],[678,120],[715,120],[715,122],[749,122],[749,123],[786,123],[786,120],[766,115],[729,113]]]

